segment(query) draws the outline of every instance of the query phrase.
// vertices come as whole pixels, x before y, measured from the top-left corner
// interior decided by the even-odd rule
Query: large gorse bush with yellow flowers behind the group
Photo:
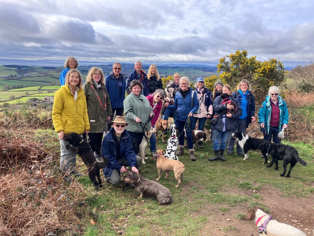
[[[228,59],[226,59],[229,58]],[[279,59],[259,61],[256,56],[247,57],[247,51],[237,50],[235,54],[219,59],[217,72],[220,80],[225,80],[234,90],[242,79],[247,79],[252,86],[257,100],[263,100],[270,86],[283,85],[288,73]]]

